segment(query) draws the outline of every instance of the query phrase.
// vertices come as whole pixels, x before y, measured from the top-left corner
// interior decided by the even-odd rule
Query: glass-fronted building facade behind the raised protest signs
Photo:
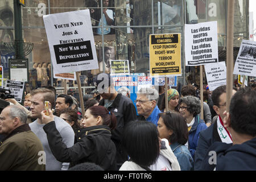
[[[249,0],[235,0],[234,59],[242,39],[249,39]],[[43,15],[89,9],[99,63],[98,70],[82,71],[81,85],[93,89],[93,76],[108,72],[105,62],[129,60],[130,73],[149,73],[149,35],[181,34],[182,76],[179,85],[200,83],[199,67],[185,67],[184,24],[207,21],[218,22],[219,60],[226,59],[226,0],[25,0],[22,7],[22,35],[24,42],[34,44],[28,59],[31,89],[53,85],[63,87],[64,81],[53,78],[51,56],[44,28]],[[106,20],[104,11],[111,19]],[[103,19],[103,21],[102,21]],[[104,21],[105,20],[105,21]],[[102,23],[103,22],[103,23]],[[9,58],[14,52],[4,46],[14,42],[14,1],[0,1],[0,52],[3,78],[9,78]],[[76,81],[68,81],[69,87]],[[204,84],[207,80],[204,76]]]

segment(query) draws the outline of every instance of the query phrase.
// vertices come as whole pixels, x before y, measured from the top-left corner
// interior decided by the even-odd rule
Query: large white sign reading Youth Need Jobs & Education
[[[98,69],[89,10],[49,14],[43,19],[56,73]]]

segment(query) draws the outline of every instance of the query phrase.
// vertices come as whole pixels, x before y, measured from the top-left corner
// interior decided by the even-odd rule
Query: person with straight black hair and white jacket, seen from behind
[[[119,171],[180,171],[167,139],[148,121],[131,121],[123,130],[122,146],[130,159]]]

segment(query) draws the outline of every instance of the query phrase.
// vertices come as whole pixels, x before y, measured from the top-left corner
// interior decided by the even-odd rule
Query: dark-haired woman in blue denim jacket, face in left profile
[[[188,127],[179,113],[160,113],[158,132],[161,139],[166,138],[176,156],[181,171],[193,170],[193,159],[185,144],[188,142]]]

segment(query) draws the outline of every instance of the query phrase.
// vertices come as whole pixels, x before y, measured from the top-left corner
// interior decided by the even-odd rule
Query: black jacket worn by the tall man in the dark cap
[[[100,101],[100,106],[104,106],[104,99]],[[115,97],[113,104],[107,108],[113,112],[117,118],[117,127],[112,131],[112,140],[117,147],[117,165],[121,166],[126,160],[127,155],[121,147],[121,139],[123,127],[130,121],[135,121],[137,118],[136,109],[130,98],[123,96],[121,93]]]

